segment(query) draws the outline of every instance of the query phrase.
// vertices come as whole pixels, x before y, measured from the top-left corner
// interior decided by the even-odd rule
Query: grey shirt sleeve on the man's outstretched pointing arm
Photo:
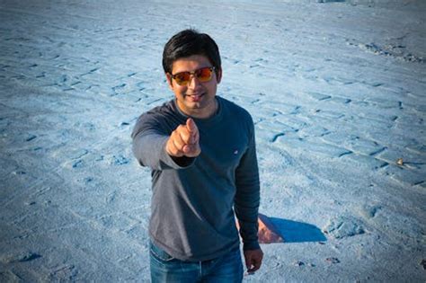
[[[165,151],[165,144],[171,135],[154,115],[143,114],[133,128],[132,151],[142,166],[153,170],[183,169],[191,166],[195,158],[172,157]]]

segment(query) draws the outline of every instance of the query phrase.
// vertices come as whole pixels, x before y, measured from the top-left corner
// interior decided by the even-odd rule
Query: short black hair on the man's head
[[[192,55],[208,57],[211,65],[215,66],[216,75],[218,75],[221,70],[221,62],[215,40],[212,40],[209,34],[200,33],[192,29],[176,33],[165,44],[163,51],[164,72],[172,74],[174,61]]]

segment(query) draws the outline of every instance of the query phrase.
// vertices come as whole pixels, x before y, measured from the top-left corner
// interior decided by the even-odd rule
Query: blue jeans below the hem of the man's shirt
[[[217,282],[243,281],[240,249],[210,261],[181,261],[150,243],[151,281],[157,282]]]

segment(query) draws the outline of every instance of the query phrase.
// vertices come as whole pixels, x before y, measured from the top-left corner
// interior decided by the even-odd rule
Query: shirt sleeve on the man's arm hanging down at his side
[[[240,226],[243,238],[243,249],[259,249],[258,241],[258,213],[260,204],[260,181],[257,164],[254,126],[251,120],[251,137],[240,164],[235,171],[235,216]]]

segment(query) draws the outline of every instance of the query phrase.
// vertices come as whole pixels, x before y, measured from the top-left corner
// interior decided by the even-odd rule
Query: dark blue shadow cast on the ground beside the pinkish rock
[[[297,221],[269,217],[284,243],[325,242],[327,238],[320,228]]]

